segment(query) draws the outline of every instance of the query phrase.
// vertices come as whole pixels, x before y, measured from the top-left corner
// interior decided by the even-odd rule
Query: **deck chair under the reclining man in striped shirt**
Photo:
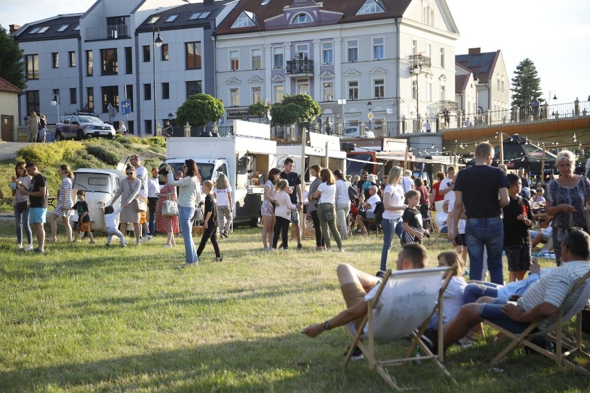
[[[583,374],[587,374],[590,376],[590,372],[587,369],[584,369],[584,367],[575,365],[569,360],[566,360],[566,356],[569,356],[574,352],[578,352],[578,354],[580,354],[581,356],[590,359],[590,354],[584,351],[582,347],[581,315],[582,309],[584,308],[584,306],[588,304],[588,301],[590,299],[590,271],[586,273],[582,278],[580,278],[578,282],[576,282],[576,284],[573,286],[572,291],[570,292],[570,295],[580,286],[583,286],[582,294],[580,295],[580,298],[578,298],[578,301],[574,304],[572,309],[568,313],[563,315],[562,307],[560,307],[557,310],[557,320],[555,321],[555,324],[551,325],[550,327],[547,327],[546,329],[543,329],[542,331],[535,331],[535,328],[537,327],[537,325],[539,325],[539,322],[534,322],[530,324],[530,326],[527,327],[526,330],[522,333],[515,334],[504,329],[503,327],[499,327],[498,325],[488,320],[484,320],[483,323],[489,325],[494,329],[497,329],[501,332],[503,336],[508,336],[512,338],[512,342],[510,342],[510,344],[506,348],[504,348],[503,351],[501,351],[498,354],[498,356],[496,356],[490,362],[488,367],[494,367],[494,365],[499,363],[504,358],[504,356],[508,354],[508,352],[512,351],[512,349],[514,349],[517,346],[523,345],[539,352],[539,354],[542,354],[552,360],[555,360],[555,363],[557,364],[570,367],[575,371],[582,372]],[[569,338],[566,338],[564,336],[564,325],[574,316],[577,316],[575,322],[575,337],[573,338],[573,340],[570,340]],[[533,343],[533,339],[537,337],[544,337],[547,340],[553,342],[555,345],[555,354],[552,351],[548,351],[547,349],[539,347],[538,345]],[[562,352],[562,348],[566,349],[566,351]]]

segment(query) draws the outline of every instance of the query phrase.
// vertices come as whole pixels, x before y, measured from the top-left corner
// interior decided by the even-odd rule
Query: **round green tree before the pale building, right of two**
[[[321,115],[321,107],[311,95],[285,95],[283,102],[271,107],[272,122],[276,125],[291,125],[312,122]]]

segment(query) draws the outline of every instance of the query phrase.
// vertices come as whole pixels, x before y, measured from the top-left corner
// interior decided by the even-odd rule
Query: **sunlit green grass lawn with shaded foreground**
[[[311,241],[301,252],[262,253],[260,230],[237,228],[220,241],[224,262],[213,262],[208,244],[198,267],[177,269],[181,239],[172,249],[162,236],[105,249],[95,236],[91,246],[62,235],[39,257],[17,252],[12,223],[0,223],[0,392],[388,391],[366,360],[343,367],[343,329],[300,333],[343,309],[337,264],[377,271],[381,239],[355,237],[343,254],[311,251]],[[447,248],[431,247],[430,266]],[[521,349],[503,373],[488,372],[501,349],[491,337],[447,352],[456,384],[430,362],[390,374],[424,392],[589,391],[587,376]]]

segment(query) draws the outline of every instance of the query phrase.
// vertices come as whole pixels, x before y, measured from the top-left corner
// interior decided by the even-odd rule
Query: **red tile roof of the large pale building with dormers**
[[[371,21],[375,19],[391,19],[401,17],[410,5],[412,0],[377,0],[377,3],[382,3],[385,7],[385,12],[368,15],[355,15],[359,8],[363,6],[366,0],[324,0],[322,10],[332,12],[341,12],[342,17],[339,24]],[[236,6],[228,17],[223,21],[217,30],[217,35],[251,33],[255,31],[265,31],[265,19],[283,15],[283,8],[293,6],[310,6],[313,0],[307,0],[305,3],[296,3],[293,0],[270,0],[266,6],[261,6],[262,0],[242,0]],[[319,3],[317,1],[316,3]],[[253,12],[256,14],[256,22],[258,26],[231,28],[231,25],[242,14],[242,11]],[[301,25],[299,25],[301,26]]]

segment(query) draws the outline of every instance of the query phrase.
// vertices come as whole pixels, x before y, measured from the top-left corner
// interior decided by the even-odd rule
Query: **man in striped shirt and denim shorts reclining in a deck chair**
[[[480,303],[465,304],[457,318],[444,327],[443,347],[465,337],[468,331],[483,320],[511,331],[521,333],[532,322],[542,321],[537,329],[542,330],[555,323],[557,310],[563,307],[567,313],[578,301],[584,286],[578,287],[570,294],[575,282],[588,273],[590,269],[590,236],[578,229],[570,229],[564,238],[561,266],[551,269],[540,280],[519,298],[517,305],[508,303],[506,299],[480,298]],[[432,342],[436,351],[438,337],[433,331],[425,331],[425,342]]]

